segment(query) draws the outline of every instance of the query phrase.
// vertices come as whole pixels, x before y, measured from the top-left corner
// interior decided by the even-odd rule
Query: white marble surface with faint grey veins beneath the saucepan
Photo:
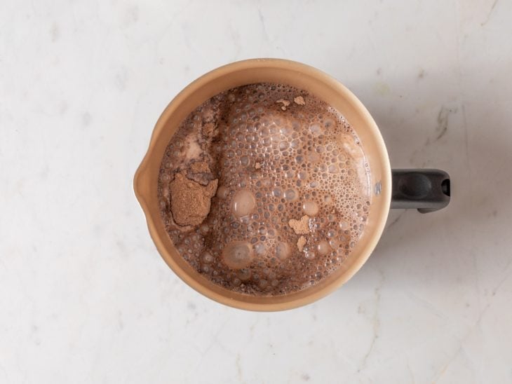
[[[512,382],[512,3],[2,1],[0,383]],[[132,177],[170,99],[284,57],[375,117],[393,167],[452,177],[391,212],[342,289],[248,313],[157,254]]]

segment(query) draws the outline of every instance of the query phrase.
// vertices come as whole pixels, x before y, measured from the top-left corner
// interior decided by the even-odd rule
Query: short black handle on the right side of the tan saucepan
[[[434,212],[450,203],[450,176],[441,170],[392,170],[391,208]]]

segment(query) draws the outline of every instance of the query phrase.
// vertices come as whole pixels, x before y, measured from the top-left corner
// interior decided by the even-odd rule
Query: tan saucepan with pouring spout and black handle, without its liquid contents
[[[166,233],[159,213],[157,196],[157,180],[163,153],[184,118],[198,105],[224,90],[260,82],[284,83],[307,90],[340,111],[361,139],[371,174],[372,203],[368,212],[368,222],[349,258],[344,261],[341,268],[318,284],[285,296],[238,294],[213,284],[196,272],[178,254]],[[435,199],[431,198],[432,193],[438,192],[436,183],[439,181],[439,184],[443,184],[439,185],[439,188],[445,196],[441,205],[447,204],[450,192],[446,174],[441,174],[439,179],[439,174],[435,172],[432,176],[429,172],[407,173],[401,170],[397,171],[397,175],[393,173],[392,181],[388,153],[375,121],[358,98],[344,85],[322,71],[298,62],[255,59],[234,62],[210,71],[184,88],[170,102],[156,123],[149,149],[135,173],[134,189],[146,215],[149,233],[156,248],[168,266],[190,287],[210,299],[236,308],[285,310],[304,306],[329,294],[363,266],[382,235],[391,204],[392,190],[393,203],[396,207],[418,207],[426,212],[441,207],[439,202],[436,205],[436,201],[433,201],[439,200],[438,196],[434,196]],[[429,196],[432,201],[429,200]]]

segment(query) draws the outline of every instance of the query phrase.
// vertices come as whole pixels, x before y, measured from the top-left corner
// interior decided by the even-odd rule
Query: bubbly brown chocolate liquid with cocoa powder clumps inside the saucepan
[[[227,289],[316,284],[361,237],[369,170],[332,107],[288,85],[222,92],[178,128],[159,174],[161,217],[190,266]]]

